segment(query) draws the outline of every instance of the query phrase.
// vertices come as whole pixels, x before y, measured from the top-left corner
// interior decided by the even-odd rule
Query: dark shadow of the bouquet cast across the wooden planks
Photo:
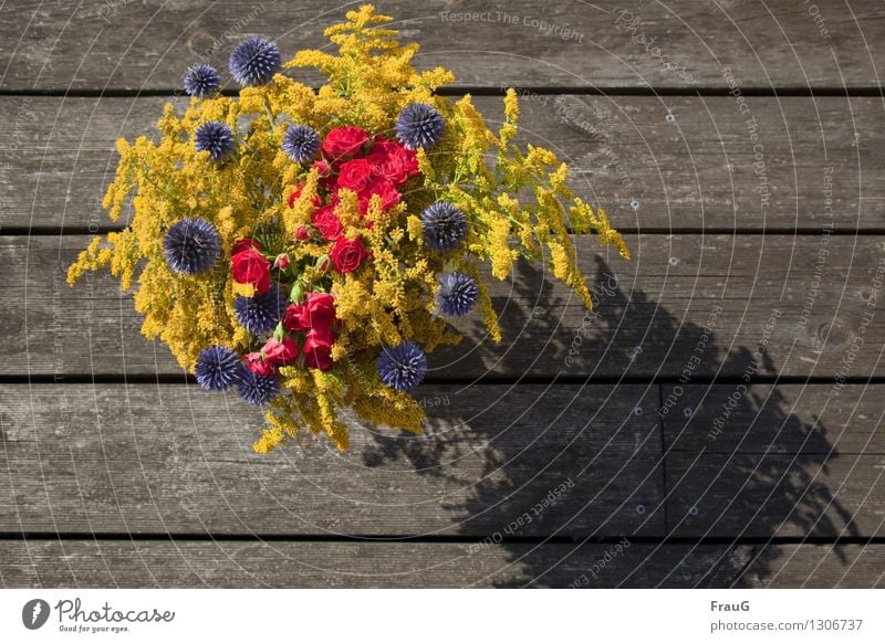
[[[538,346],[543,359],[563,363],[561,375],[574,376],[566,361],[574,344],[548,344],[552,327],[561,322],[543,318],[543,310],[556,303],[551,301],[551,281],[537,271],[527,274],[524,282],[513,284],[510,299],[496,306],[506,310],[511,327],[522,328],[520,346]],[[764,337],[757,346],[721,346],[716,336],[717,302],[710,302],[706,327],[683,323],[643,291],[618,283],[603,260],[597,261],[591,283],[597,314],[586,317],[582,341],[602,342],[610,358],[626,363],[649,342],[678,345],[684,355],[667,359],[687,365],[683,381],[603,387],[592,381],[591,369],[580,396],[563,398],[564,387],[554,382],[530,400],[488,400],[485,411],[471,418],[460,415],[458,405],[470,387],[455,387],[450,399],[424,400],[428,414],[424,436],[373,433],[377,450],[366,453],[365,464],[386,466],[405,456],[423,475],[450,481],[447,463],[481,458],[482,476],[456,481],[469,489],[468,499],[446,504],[446,509],[464,525],[478,516],[485,524],[500,525],[468,547],[467,556],[481,556],[491,542],[514,542],[511,562],[521,572],[508,586],[740,587],[750,565],[759,584],[782,554],[778,537],[858,535],[852,512],[830,488],[840,454],[829,440],[829,429],[820,418],[801,419],[779,386],[752,384],[757,375],[777,378]],[[652,318],[648,327],[621,324],[643,309]],[[697,349],[689,352],[686,346]],[[493,369],[501,351],[483,342],[445,356]],[[746,371],[747,383],[742,379],[693,383],[715,382],[720,367],[732,360],[752,365]],[[420,391],[417,397],[421,399]],[[646,422],[654,422],[637,424],[639,411]],[[492,414],[496,421],[489,422]],[[512,417],[503,431],[501,415]],[[448,429],[458,424],[466,424],[472,438],[450,439]],[[537,426],[537,436],[527,438],[527,425]],[[523,466],[522,454],[529,450],[534,450],[534,468]],[[538,457],[537,450],[545,456]],[[613,458],[623,463],[621,470],[612,466]],[[624,470],[632,474],[623,482],[635,488],[618,486]],[[594,471],[605,477],[594,476]],[[566,488],[558,495],[555,489],[563,484]],[[660,497],[648,488],[656,484],[663,489]],[[600,489],[606,491],[600,494]],[[558,502],[565,496],[571,496],[568,503]],[[527,550],[528,537],[539,542],[537,548]],[[543,540],[551,537],[573,542],[571,554],[553,562],[540,556]],[[676,557],[673,548],[646,547],[665,537],[685,545]],[[636,542],[642,545],[631,550]],[[714,552],[710,542],[719,546]],[[582,546],[590,544],[608,548],[602,554],[595,549],[591,558],[582,556]]]

